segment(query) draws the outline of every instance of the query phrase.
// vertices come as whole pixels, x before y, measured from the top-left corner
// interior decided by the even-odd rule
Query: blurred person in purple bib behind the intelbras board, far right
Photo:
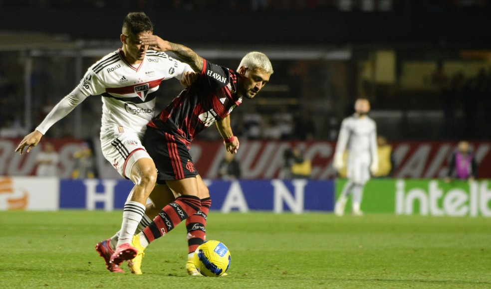
[[[457,150],[452,153],[450,158],[449,171],[445,177],[445,182],[450,182],[453,178],[473,181],[477,178],[477,175],[478,164],[470,144],[467,141],[461,141],[457,144]]]

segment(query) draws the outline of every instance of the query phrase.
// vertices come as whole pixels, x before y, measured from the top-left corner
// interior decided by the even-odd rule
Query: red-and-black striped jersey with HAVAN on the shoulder
[[[241,103],[242,97],[237,95],[237,72],[204,59],[198,79],[148,126],[177,135],[189,144],[197,134],[227,117]]]

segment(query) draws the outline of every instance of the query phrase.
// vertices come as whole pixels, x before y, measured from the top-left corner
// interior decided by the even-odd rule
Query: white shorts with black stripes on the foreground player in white
[[[151,159],[138,135],[132,132],[106,132],[101,135],[101,148],[104,157],[127,179],[137,160],[144,157]]]

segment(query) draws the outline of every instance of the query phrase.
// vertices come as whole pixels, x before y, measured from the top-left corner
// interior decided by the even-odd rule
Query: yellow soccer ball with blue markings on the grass
[[[206,241],[196,249],[194,263],[203,276],[222,276],[230,267],[229,248],[220,241]]]

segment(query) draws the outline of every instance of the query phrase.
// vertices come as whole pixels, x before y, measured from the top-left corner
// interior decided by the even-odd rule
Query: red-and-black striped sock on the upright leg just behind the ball
[[[189,253],[196,251],[196,248],[206,240],[206,219],[211,205],[211,198],[201,199],[200,210],[186,219]]]

